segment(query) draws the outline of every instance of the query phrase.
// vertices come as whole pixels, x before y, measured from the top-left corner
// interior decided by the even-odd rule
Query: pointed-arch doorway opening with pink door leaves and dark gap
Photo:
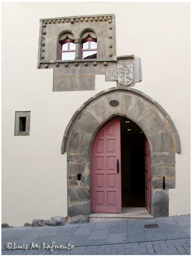
[[[151,212],[149,144],[135,122],[115,116],[93,140],[91,212],[121,213],[121,208],[139,207]]]

